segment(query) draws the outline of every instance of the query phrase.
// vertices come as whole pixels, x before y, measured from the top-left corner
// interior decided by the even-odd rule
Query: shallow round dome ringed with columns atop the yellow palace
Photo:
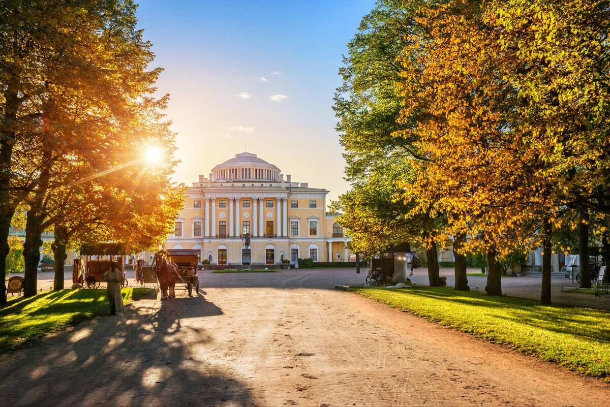
[[[212,168],[214,181],[279,181],[279,168],[268,163],[256,154],[243,152]]]

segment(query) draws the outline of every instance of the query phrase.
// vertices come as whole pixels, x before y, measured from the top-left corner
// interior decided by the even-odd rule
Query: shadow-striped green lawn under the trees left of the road
[[[124,288],[123,303],[146,296],[146,288]],[[0,308],[0,354],[25,342],[110,312],[106,289],[49,291],[35,297],[9,297]]]

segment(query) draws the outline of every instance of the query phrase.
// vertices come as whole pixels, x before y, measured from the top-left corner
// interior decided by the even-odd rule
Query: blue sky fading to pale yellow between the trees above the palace
[[[296,182],[331,191],[343,177],[332,97],[346,44],[373,0],[142,0],[138,25],[165,68],[159,93],[178,132],[174,180],[247,149]],[[241,95],[241,97],[240,97]]]

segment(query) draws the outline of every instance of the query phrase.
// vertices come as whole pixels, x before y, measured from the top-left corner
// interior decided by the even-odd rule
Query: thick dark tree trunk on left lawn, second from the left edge
[[[23,296],[36,295],[38,285],[38,264],[40,263],[40,247],[42,246],[42,232],[45,216],[40,214],[37,205],[32,205],[27,211],[26,242],[23,244],[23,258],[26,271],[23,278]]]

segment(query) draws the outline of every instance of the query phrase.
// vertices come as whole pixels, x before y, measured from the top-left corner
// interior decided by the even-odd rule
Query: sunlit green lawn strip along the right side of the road
[[[544,306],[448,287],[351,291],[376,302],[610,381],[610,312]]]

